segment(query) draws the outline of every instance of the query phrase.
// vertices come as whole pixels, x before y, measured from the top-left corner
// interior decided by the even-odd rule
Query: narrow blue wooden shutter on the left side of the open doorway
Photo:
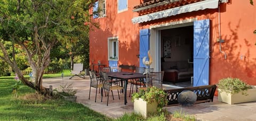
[[[140,67],[146,67],[143,64],[142,59],[143,57],[148,57],[149,36],[150,36],[149,29],[140,30]]]

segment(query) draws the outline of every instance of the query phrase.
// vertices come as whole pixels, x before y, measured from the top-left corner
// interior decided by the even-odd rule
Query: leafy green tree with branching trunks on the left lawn
[[[92,3],[93,0],[0,1],[0,59],[12,67],[23,84],[48,94],[49,88],[42,85],[42,78],[51,62],[52,47],[78,42],[79,37],[87,35],[90,25],[97,25],[89,21]],[[5,46],[6,43],[11,45]],[[25,52],[34,82],[26,79],[17,66],[15,45]]]

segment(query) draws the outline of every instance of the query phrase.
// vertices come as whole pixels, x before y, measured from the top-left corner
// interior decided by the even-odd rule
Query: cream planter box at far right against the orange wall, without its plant
[[[220,92],[220,89],[218,89],[218,101],[228,104],[256,101],[256,86],[252,86],[252,88],[246,91],[246,94],[244,95],[242,92],[230,94],[223,91]]]

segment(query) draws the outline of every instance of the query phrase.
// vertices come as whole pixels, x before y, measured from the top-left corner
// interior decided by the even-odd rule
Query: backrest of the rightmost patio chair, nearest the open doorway
[[[149,75],[150,86],[163,88],[163,77],[164,77],[164,71],[150,72],[150,75]]]

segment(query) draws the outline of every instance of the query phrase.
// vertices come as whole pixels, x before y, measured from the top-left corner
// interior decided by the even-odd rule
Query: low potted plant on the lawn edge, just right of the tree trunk
[[[64,100],[76,102],[77,96],[75,94],[77,90],[73,88],[72,84],[60,86],[60,88],[56,88],[53,92],[60,95]]]

